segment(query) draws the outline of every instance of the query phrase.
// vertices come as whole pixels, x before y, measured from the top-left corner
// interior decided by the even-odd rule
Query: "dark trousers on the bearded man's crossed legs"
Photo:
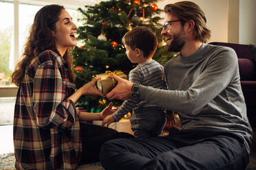
[[[107,170],[246,169],[248,152],[233,134],[173,132],[169,136],[108,141],[100,151]]]

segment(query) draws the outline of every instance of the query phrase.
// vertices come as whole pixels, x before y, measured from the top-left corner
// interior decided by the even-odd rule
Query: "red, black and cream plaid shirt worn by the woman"
[[[17,169],[76,169],[81,132],[74,103],[67,99],[74,86],[56,50],[43,51],[27,66],[14,110]]]

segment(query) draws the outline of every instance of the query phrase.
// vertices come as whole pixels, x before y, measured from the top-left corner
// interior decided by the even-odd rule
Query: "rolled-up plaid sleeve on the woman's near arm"
[[[36,121],[39,126],[50,128],[58,125],[71,127],[75,122],[75,108],[65,99],[70,82],[63,81],[54,65],[39,66],[34,77],[33,101]]]

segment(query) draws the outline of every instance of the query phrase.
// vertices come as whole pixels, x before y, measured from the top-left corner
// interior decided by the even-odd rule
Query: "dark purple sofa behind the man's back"
[[[242,91],[246,101],[247,115],[252,127],[256,127],[256,46],[227,42],[210,42],[211,45],[231,47],[237,53]]]

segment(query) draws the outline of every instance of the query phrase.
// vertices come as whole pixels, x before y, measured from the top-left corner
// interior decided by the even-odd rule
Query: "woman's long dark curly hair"
[[[25,75],[25,68],[30,62],[47,49],[55,49],[55,40],[52,32],[56,31],[56,22],[65,8],[61,5],[46,5],[36,12],[34,23],[30,28],[30,35],[25,43],[23,59],[16,65],[12,73],[12,82],[17,86],[21,85]],[[68,73],[71,82],[74,82],[73,59],[70,57],[70,50],[63,56],[68,65]]]

